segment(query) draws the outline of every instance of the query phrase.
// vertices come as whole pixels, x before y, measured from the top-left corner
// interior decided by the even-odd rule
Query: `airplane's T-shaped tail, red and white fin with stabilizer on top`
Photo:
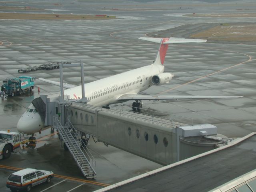
[[[139,39],[160,43],[160,48],[154,60],[154,65],[163,65],[166,52],[168,50],[168,44],[172,43],[195,43],[195,42],[206,42],[204,39],[185,39],[185,38],[151,38],[151,37],[140,37]]]

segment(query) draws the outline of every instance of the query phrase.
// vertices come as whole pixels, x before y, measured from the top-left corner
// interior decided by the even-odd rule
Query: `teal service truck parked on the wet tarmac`
[[[34,81],[36,78],[20,76],[12,77],[3,80],[4,93],[8,96],[20,95],[27,91],[32,91],[34,89]]]

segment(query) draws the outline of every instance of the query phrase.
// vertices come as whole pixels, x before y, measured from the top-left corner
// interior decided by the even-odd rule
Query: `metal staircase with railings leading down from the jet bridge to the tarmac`
[[[95,159],[71,122],[67,119],[66,125],[62,126],[58,118],[54,117],[54,128],[58,130],[60,138],[66,144],[84,176],[90,179],[95,178],[96,172],[92,168],[92,166],[96,166]]]

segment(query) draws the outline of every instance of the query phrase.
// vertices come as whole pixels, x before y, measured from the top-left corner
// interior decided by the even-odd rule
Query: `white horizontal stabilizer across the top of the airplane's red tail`
[[[152,37],[140,37],[141,40],[146,40],[154,43],[161,43],[162,38],[152,38]],[[168,38],[164,38],[168,39]],[[168,40],[165,40],[163,44],[173,44],[173,43],[198,43],[198,42],[206,42],[205,39],[185,39],[185,38],[176,38],[170,37]]]

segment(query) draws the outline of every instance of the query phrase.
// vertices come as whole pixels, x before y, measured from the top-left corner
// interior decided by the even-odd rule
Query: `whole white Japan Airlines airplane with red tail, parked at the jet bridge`
[[[192,43],[206,42],[202,39],[185,38],[149,38],[141,37],[141,40],[160,43],[160,48],[154,62],[151,65],[143,66],[127,72],[122,72],[107,78],[96,80],[84,84],[85,96],[88,98],[88,104],[94,106],[109,106],[128,100],[134,100],[132,110],[136,111],[142,108],[142,100],[178,100],[178,99],[206,99],[206,98],[239,98],[242,96],[173,96],[173,95],[141,95],[138,94],[150,86],[160,86],[170,82],[173,74],[164,72],[164,59],[169,44],[174,43]],[[60,86],[60,82],[39,78],[44,82]],[[81,86],[64,84],[64,94],[69,95],[70,99],[79,100],[82,98]],[[22,115],[17,124],[19,132],[24,134],[34,134],[48,127],[44,126],[36,108],[30,104],[26,112]]]

